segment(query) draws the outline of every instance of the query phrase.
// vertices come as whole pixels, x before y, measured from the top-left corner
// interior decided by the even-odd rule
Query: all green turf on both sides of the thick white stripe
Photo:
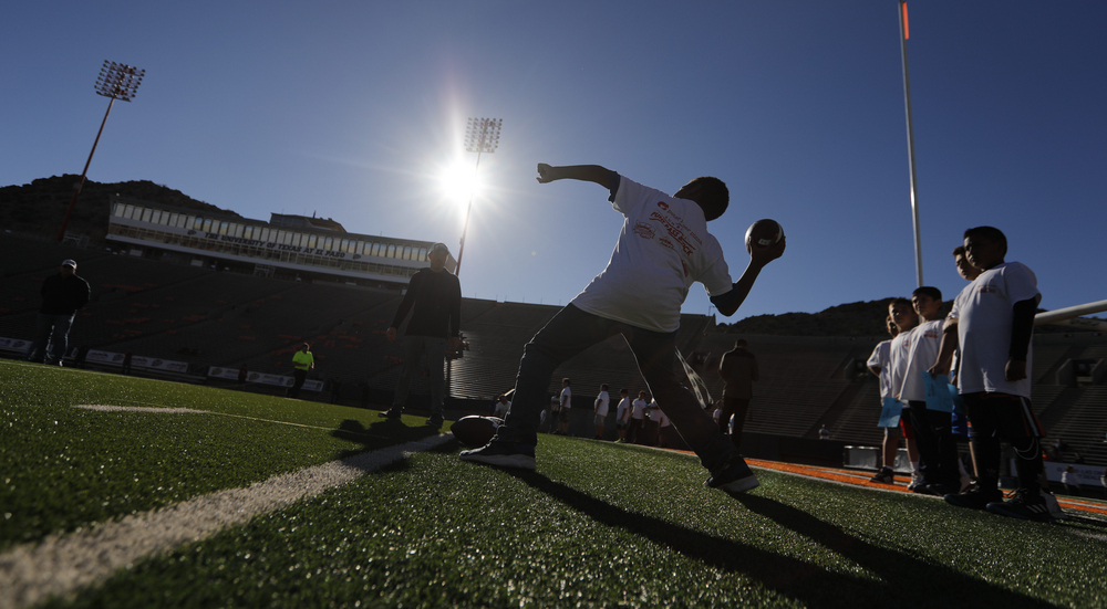
[[[0,364],[0,379],[7,545],[428,433],[375,411],[42,366]],[[693,456],[562,437],[540,437],[537,472],[465,463],[457,450],[448,442],[48,605],[1107,605],[1100,519],[1022,522],[768,471],[732,497],[703,487]]]

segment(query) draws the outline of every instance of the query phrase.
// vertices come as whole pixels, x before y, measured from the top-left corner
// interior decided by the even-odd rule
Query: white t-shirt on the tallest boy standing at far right
[[[1011,349],[1011,325],[1017,302],[1042,301],[1034,272],[1021,262],[1004,262],[989,269],[969,284],[969,293],[953,303],[950,317],[958,319],[961,370],[958,389],[1031,397],[1031,379],[1004,378]],[[1034,369],[1034,343],[1026,351],[1026,374]]]

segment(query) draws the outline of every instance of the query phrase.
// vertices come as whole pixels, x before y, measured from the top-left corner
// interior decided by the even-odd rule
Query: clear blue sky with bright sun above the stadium
[[[97,6],[100,4],[100,6]],[[951,297],[965,228],[1004,230],[1059,308],[1107,298],[1107,2],[917,0],[909,42],[923,273]],[[0,27],[0,185],[80,174],[103,60],[144,67],[89,178],[146,179],[268,220],[317,213],[444,241],[439,176],[468,117],[482,159],[465,296],[565,304],[621,224],[600,164],[675,191],[715,175],[737,279],[759,218],[788,235],[734,317],[915,286],[896,0],[840,2],[17,2]],[[650,286],[642,286],[650,297]],[[686,313],[708,313],[702,286]],[[721,318],[721,321],[726,321]]]

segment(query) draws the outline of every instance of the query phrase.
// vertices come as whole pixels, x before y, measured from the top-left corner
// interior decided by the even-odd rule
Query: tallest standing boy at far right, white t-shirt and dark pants
[[[1004,262],[1007,239],[992,227],[964,233],[969,262],[981,270],[970,292],[953,304],[943,332],[946,344],[960,345],[958,389],[965,400],[976,455],[976,483],[964,493],[945,496],[962,507],[987,510],[1004,516],[1049,522],[1042,496],[1042,448],[1045,435],[1031,409],[1034,315],[1042,294],[1034,272],[1018,262]],[[952,334],[956,333],[954,343]],[[942,370],[941,354],[935,371]],[[1000,441],[1015,449],[1018,486],[1004,502],[999,490]]]

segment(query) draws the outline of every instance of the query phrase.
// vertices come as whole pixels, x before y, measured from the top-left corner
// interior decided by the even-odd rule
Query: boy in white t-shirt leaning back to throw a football
[[[534,469],[538,411],[554,370],[596,343],[622,335],[650,392],[711,472],[707,485],[726,492],[755,487],[757,476],[682,385],[676,330],[693,282],[704,285],[720,313],[733,315],[762,269],[784,255],[785,240],[751,245],[749,264],[732,283],[723,249],[707,232],[707,221],[722,216],[730,202],[726,185],[717,178],[696,178],[670,197],[598,165],[540,164],[538,174],[540,183],[572,179],[608,189],[612,207],[624,216],[623,228],[608,266],[527,344],[511,417],[492,442],[461,458]],[[643,288],[650,297],[641,296]]]

